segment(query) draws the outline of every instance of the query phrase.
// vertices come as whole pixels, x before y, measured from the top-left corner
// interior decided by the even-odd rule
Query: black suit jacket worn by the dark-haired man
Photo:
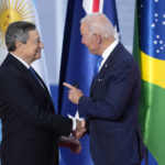
[[[44,88],[10,54],[0,67],[2,165],[58,164],[57,141],[72,132],[73,121],[55,114],[50,94],[40,81]]]

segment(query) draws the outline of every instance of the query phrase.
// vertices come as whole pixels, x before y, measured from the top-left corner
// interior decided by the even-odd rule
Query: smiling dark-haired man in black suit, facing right
[[[33,23],[14,22],[6,33],[9,54],[0,66],[2,165],[57,165],[58,143],[79,153],[81,123],[55,114],[48,90],[31,67],[43,43]]]

